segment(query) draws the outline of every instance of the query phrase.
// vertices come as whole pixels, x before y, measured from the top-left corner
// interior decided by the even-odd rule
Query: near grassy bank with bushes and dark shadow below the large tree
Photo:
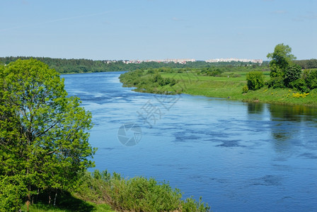
[[[55,196],[56,195],[56,199]],[[51,196],[51,198],[50,198]],[[50,190],[34,195],[29,211],[173,211],[207,212],[210,207],[202,199],[183,199],[179,189],[153,178],[126,179],[109,172],[86,172],[76,186],[67,191]],[[1,211],[1,208],[0,208]],[[28,211],[27,204],[21,211]]]

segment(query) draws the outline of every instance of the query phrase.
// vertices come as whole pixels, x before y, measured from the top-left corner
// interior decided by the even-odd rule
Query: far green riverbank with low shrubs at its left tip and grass
[[[185,93],[190,95],[203,95],[210,98],[227,98],[243,102],[265,102],[279,105],[304,105],[317,107],[317,90],[301,95],[298,91],[289,88],[267,88],[248,90],[242,92],[246,85],[248,71],[227,71],[219,76],[203,76],[197,71],[184,71],[182,73],[149,73],[139,72],[136,76],[131,73],[122,74],[120,81],[124,86],[136,87],[134,90],[145,93]],[[265,81],[270,78],[270,71],[263,71]],[[159,74],[162,79],[154,79]],[[157,78],[157,75],[156,75]],[[166,83],[173,81],[174,83]],[[161,81],[163,83],[161,83]]]

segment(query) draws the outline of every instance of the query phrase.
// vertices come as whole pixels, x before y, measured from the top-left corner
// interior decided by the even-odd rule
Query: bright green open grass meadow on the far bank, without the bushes
[[[231,100],[241,100],[243,102],[267,102],[282,105],[307,105],[317,106],[317,90],[311,90],[309,95],[296,97],[296,90],[289,88],[267,88],[260,90],[249,90],[242,93],[242,87],[246,85],[247,72],[235,72],[238,77],[230,77],[232,72],[221,74],[221,76],[199,76],[196,73],[161,73],[163,78],[175,78],[179,82],[172,88],[168,86],[159,88],[160,90],[181,90],[181,93],[190,95],[204,95],[212,98],[229,98]],[[269,71],[265,71],[265,81],[270,76]],[[229,76],[229,77],[228,77]]]

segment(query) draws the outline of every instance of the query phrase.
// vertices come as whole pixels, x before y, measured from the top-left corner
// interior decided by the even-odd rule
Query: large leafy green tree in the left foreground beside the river
[[[69,189],[93,162],[91,113],[67,97],[64,80],[35,59],[0,67],[0,176],[38,189]]]

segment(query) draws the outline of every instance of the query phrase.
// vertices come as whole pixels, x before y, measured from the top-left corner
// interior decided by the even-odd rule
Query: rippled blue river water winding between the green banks
[[[316,108],[136,93],[119,76],[62,76],[93,114],[96,169],[166,180],[212,211],[317,210]]]

